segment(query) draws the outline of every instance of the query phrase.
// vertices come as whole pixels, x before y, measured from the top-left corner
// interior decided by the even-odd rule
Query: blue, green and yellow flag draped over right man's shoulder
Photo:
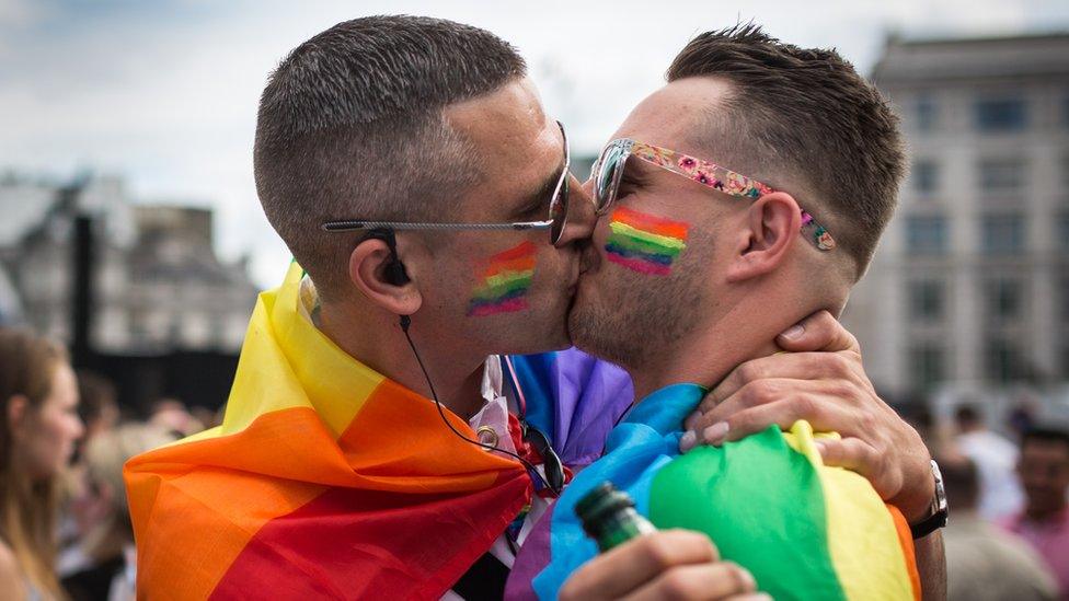
[[[682,420],[705,392],[677,384],[635,406],[609,434],[605,456],[575,477],[528,538],[507,597],[555,599],[597,554],[574,507],[611,481],[657,528],[706,533],[773,599],[920,599],[901,513],[860,475],[825,466],[807,423],[679,455]]]

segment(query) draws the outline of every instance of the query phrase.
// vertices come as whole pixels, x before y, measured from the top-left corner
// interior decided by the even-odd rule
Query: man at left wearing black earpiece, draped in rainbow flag
[[[492,34],[367,18],[271,76],[254,159],[295,264],[253,314],[223,425],[127,466],[139,591],[499,596],[516,546],[581,463],[568,439],[599,450],[632,394],[619,368],[576,351],[563,351],[578,366],[566,373],[508,357],[570,345],[596,220],[564,126]],[[827,314],[805,323],[792,349],[841,333]],[[525,390],[547,373],[582,392]],[[550,413],[571,429],[547,431]],[[679,536],[630,557],[656,562]],[[750,587],[713,557],[662,567],[652,581]]]

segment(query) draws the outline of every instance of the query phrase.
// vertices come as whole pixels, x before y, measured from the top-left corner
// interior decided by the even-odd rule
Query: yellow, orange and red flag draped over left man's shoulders
[[[260,296],[222,425],[126,464],[140,598],[437,599],[528,502],[519,463],[321,334],[301,276]]]

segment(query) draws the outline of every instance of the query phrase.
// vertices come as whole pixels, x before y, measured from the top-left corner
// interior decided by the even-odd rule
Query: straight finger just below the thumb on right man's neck
[[[769,379],[827,380],[853,383],[871,390],[861,357],[851,352],[781,352],[770,357],[751,359],[733,369],[705,395],[700,411],[709,412],[739,389]],[[839,391],[843,392],[843,391]]]

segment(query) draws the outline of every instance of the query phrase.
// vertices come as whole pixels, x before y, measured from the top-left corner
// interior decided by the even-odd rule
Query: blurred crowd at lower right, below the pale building
[[[1019,403],[998,424],[968,402],[949,423],[908,416],[946,489],[951,600],[1069,599],[1069,429],[1034,409]]]

